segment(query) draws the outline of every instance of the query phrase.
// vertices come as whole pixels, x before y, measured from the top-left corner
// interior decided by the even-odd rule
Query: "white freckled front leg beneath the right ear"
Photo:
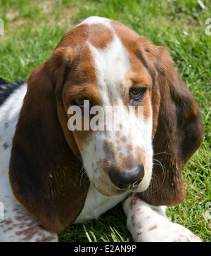
[[[165,206],[143,202],[135,193],[123,202],[127,228],[139,242],[200,242],[200,238],[167,219]]]

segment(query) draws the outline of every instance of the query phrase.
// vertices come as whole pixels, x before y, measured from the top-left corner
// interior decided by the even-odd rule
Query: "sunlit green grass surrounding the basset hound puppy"
[[[205,20],[211,18],[209,0],[203,9],[196,0],[0,0],[4,36],[0,37],[0,76],[7,80],[27,78],[32,68],[44,63],[60,38],[89,16],[113,18],[169,49],[181,78],[193,92],[205,128],[205,140],[183,172],[186,200],[168,208],[174,222],[186,226],[204,241],[211,241],[211,219],[205,207],[211,202],[210,173],[210,78],[211,35]],[[61,241],[131,241],[120,205],[98,221],[72,225]]]

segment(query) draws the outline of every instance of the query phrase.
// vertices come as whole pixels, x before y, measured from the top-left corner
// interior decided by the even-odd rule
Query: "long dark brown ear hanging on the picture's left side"
[[[70,52],[60,47],[49,61],[32,71],[13,138],[9,170],[16,199],[56,233],[78,217],[89,187],[87,177],[82,177],[82,163],[72,152],[74,138],[70,131],[64,135],[58,116],[63,111],[60,93],[69,68]]]

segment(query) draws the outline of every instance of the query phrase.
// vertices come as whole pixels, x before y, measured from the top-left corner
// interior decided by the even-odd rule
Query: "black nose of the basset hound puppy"
[[[141,183],[144,176],[144,168],[143,164],[140,164],[131,171],[121,172],[117,169],[110,169],[108,173],[110,181],[112,181],[117,188],[129,189]]]

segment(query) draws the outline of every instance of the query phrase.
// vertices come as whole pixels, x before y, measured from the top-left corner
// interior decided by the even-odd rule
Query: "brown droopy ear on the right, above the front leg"
[[[142,50],[153,78],[153,178],[140,197],[151,205],[178,205],[186,190],[184,165],[203,142],[196,102],[164,47]]]

